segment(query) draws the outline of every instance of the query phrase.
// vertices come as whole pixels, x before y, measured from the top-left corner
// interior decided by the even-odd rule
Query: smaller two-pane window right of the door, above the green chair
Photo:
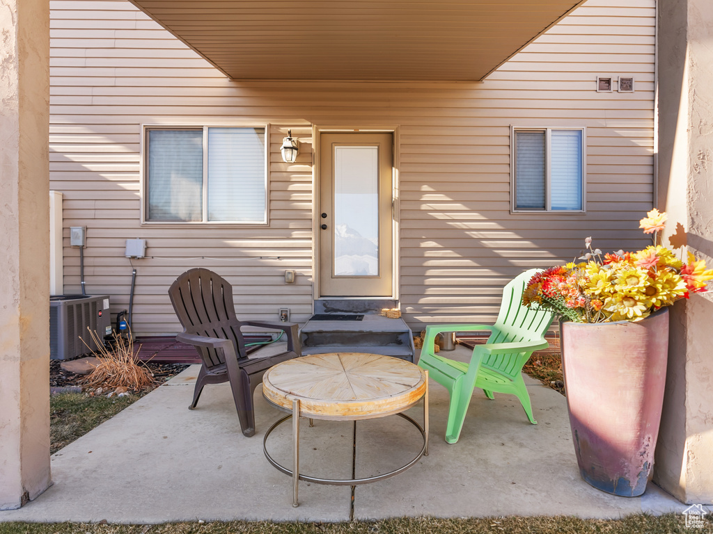
[[[513,211],[585,211],[583,128],[513,128]]]

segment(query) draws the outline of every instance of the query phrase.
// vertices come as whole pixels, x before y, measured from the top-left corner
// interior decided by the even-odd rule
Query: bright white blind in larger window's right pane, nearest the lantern
[[[265,128],[208,128],[208,221],[265,221]]]

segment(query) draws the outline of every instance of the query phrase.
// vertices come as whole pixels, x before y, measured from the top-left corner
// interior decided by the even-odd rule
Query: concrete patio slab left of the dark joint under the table
[[[240,431],[227,384],[205,387],[189,410],[197,372],[190,367],[54,454],[54,485],[23,508],[0,512],[0,521],[349,520],[349,487],[300,483],[303,506],[292,508],[291,478],[262,453],[265,431],[283,414],[258,392],[250,438]],[[290,432],[285,424],[270,441],[288,467]],[[302,456],[302,468],[348,478],[352,442],[349,422],[330,427],[319,444],[304,440],[303,450],[317,451]]]

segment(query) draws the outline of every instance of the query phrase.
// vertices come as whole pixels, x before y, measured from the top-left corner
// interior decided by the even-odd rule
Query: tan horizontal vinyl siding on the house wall
[[[134,328],[179,330],[166,290],[205,266],[237,313],[304,322],[312,310],[312,126],[394,127],[404,317],[488,322],[520,271],[647,244],[653,198],[654,0],[590,0],[484,83],[230,81],[128,0],[52,0],[51,189],[64,194],[64,284],[79,293],[69,226],[87,226],[88,293],[128,307],[125,239],[147,240]],[[597,93],[597,75],[635,93]],[[142,125],[270,125],[269,224],[142,225]],[[587,212],[511,214],[510,132],[585,127]],[[287,129],[297,162],[279,155]],[[262,259],[260,258],[262,256]],[[279,257],[279,259],[277,259]],[[214,258],[214,259],[212,259]],[[284,271],[297,271],[294,284]]]

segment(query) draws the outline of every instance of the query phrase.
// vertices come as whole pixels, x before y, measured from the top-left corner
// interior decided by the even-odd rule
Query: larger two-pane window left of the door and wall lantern
[[[146,127],[145,221],[267,223],[265,127]]]

